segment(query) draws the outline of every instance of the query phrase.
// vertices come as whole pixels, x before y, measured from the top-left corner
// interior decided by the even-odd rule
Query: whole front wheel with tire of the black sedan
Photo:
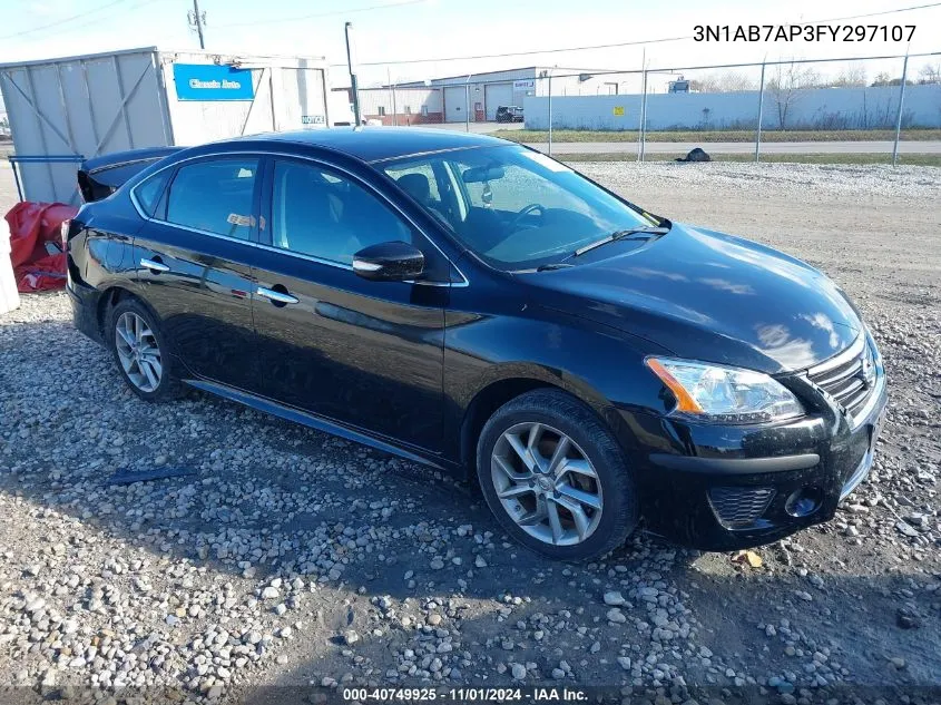
[[[604,556],[639,520],[617,441],[587,407],[558,390],[528,392],[493,413],[478,439],[477,476],[503,529],[555,560]]]

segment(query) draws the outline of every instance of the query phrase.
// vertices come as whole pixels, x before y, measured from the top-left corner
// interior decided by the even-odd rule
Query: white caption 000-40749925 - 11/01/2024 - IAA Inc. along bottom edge
[[[584,703],[589,694],[578,688],[344,688],[343,702],[369,703]]]

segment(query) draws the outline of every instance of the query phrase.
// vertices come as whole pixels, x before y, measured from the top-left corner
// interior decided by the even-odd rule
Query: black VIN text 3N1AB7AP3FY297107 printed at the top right
[[[914,25],[696,25],[694,41],[911,41]]]

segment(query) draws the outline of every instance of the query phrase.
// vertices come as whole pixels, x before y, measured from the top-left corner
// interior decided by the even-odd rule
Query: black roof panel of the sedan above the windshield
[[[421,127],[332,127],[271,133],[245,139],[290,141],[324,147],[369,163],[451,149],[499,147],[512,144],[488,135]]]

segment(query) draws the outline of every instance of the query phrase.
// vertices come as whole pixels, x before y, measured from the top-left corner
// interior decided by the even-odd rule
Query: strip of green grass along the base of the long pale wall
[[[548,130],[499,129],[492,133],[517,143],[549,141]],[[637,130],[552,130],[552,141],[637,141]],[[903,141],[924,141],[941,139],[941,129],[902,130]],[[895,130],[853,129],[853,130],[765,130],[762,141],[882,141],[895,139]],[[647,141],[754,141],[755,130],[658,130],[647,133]]]

